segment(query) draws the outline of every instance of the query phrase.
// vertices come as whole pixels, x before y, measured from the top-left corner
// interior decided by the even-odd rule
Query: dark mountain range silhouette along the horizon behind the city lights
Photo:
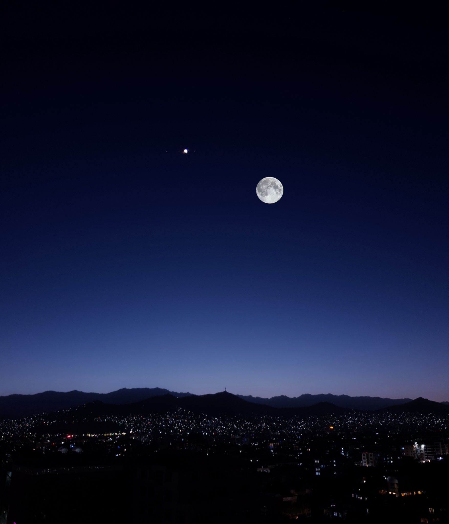
[[[425,401],[425,402],[424,402]],[[284,395],[271,398],[233,395],[227,391],[209,395],[192,395],[189,392],[169,391],[163,388],[122,388],[109,393],[89,393],[83,391],[45,391],[36,395],[8,395],[0,397],[0,417],[18,418],[36,413],[48,413],[70,409],[81,405],[100,402],[104,406],[125,406],[132,412],[146,410],[163,410],[179,406],[192,411],[211,413],[270,413],[301,408],[307,412],[341,409],[378,410],[395,408],[429,409],[442,412],[449,411],[446,402],[433,402],[421,397],[411,399],[390,399],[381,397],[350,397],[348,395],[301,395],[287,397]],[[430,402],[430,404],[426,403]],[[98,406],[100,406],[99,404]],[[410,408],[411,406],[411,408]],[[106,408],[104,408],[106,409]],[[108,408],[109,409],[109,408]],[[110,408],[113,410],[114,408]],[[137,411],[136,411],[137,410]],[[140,411],[139,411],[140,410]],[[120,409],[123,412],[123,409]]]

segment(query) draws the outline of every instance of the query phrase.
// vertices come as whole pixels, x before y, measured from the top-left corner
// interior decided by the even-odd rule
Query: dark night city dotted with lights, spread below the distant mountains
[[[254,409],[228,392],[194,400],[190,409],[176,406],[171,395],[124,405],[94,401],[4,419],[3,471],[10,464],[20,498],[26,493],[34,500],[27,512],[20,499],[12,497],[14,518],[50,522],[69,517],[81,522],[85,514],[138,522],[447,518],[449,406],[416,399],[377,411],[328,403]],[[68,478],[72,478],[69,490]],[[108,495],[98,489],[104,483]],[[87,486],[94,490],[95,500],[105,497],[100,511],[87,496]],[[111,504],[111,493],[120,504]],[[104,504],[109,507],[106,512]]]

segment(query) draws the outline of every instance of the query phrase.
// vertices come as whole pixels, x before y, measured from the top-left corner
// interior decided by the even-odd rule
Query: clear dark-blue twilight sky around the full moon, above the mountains
[[[69,5],[1,36],[0,395],[449,400],[440,15]]]

